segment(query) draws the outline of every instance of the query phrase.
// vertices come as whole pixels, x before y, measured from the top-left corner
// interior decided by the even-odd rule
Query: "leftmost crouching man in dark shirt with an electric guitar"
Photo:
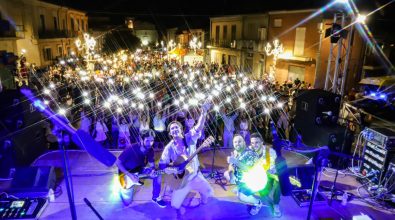
[[[130,147],[126,148],[115,163],[120,171],[120,182],[122,186],[125,186],[124,175],[126,175],[129,181],[132,181],[134,184],[142,185],[137,175],[149,171],[153,182],[152,201],[160,208],[165,208],[166,202],[159,197],[161,176],[153,175],[153,171],[155,169],[154,150],[152,148],[154,139],[155,132],[153,130],[149,129],[141,132],[140,142],[132,144]],[[130,189],[126,189],[124,187],[123,191],[122,199],[124,202],[129,203],[130,201],[125,200],[126,198],[131,198],[133,196],[133,187]]]

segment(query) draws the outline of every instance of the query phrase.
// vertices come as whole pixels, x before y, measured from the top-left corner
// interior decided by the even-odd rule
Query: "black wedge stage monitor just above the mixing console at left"
[[[54,189],[56,174],[54,167],[18,167],[9,192],[48,192]]]

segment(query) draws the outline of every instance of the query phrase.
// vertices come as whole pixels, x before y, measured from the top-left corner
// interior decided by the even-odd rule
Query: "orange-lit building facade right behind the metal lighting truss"
[[[278,39],[283,44],[283,54],[278,57],[276,64],[276,81],[294,81],[299,79],[310,83],[315,88],[324,88],[328,57],[331,56],[329,73],[333,77],[333,69],[337,55],[337,44],[334,44],[330,53],[331,39],[325,36],[326,30],[333,24],[334,14],[328,12],[307,19],[315,9],[295,11],[273,11],[269,12],[269,42]],[[346,19],[347,20],[347,19]],[[304,22],[301,22],[304,21]],[[346,21],[346,25],[350,21]],[[346,26],[345,25],[345,26]],[[358,32],[350,34],[342,39],[342,65],[346,59],[345,48],[350,44],[350,56],[348,59],[346,90],[351,89],[355,77],[361,71],[361,57],[364,53],[364,43]],[[269,71],[273,63],[273,56],[266,60],[266,71]],[[339,77],[344,73],[339,72]]]

